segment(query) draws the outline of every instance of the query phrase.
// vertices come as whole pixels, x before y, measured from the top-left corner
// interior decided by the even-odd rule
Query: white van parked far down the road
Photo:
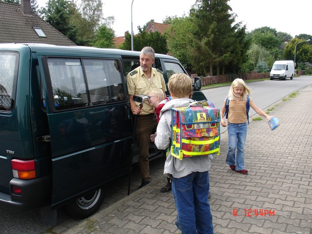
[[[291,60],[275,61],[270,72],[270,80],[273,79],[283,79],[294,78],[295,64]]]

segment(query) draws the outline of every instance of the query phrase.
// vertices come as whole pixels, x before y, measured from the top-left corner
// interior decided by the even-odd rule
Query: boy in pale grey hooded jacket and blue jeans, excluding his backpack
[[[172,100],[160,112],[155,139],[158,149],[167,149],[171,145],[171,108],[187,107],[194,102],[189,98],[193,93],[192,81],[186,74],[172,75],[167,86]],[[211,155],[203,155],[180,160],[171,155],[171,150],[168,151],[164,174],[172,175],[171,188],[177,209],[176,226],[182,234],[213,234],[212,215],[207,199],[211,158]]]

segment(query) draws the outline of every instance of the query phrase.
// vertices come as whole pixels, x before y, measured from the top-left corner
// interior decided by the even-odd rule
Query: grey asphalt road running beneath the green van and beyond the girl
[[[273,80],[260,81],[248,83],[247,85],[252,89],[252,98],[256,105],[261,109],[274,104],[276,101],[287,97],[289,94],[312,84],[312,76],[295,77],[293,80]],[[216,107],[221,108],[223,100],[226,97],[229,86],[219,87],[214,89],[203,90],[208,100],[212,101]],[[251,108],[250,117],[256,112]],[[223,127],[222,127],[223,128]],[[226,128],[221,128],[221,132]],[[150,170],[151,176],[161,175],[163,171],[164,158],[156,159],[151,162]],[[136,189],[140,184],[138,168],[132,171],[131,191]],[[165,182],[165,179],[164,179]],[[120,178],[114,183],[105,188],[105,198],[100,209],[105,209],[118,200],[127,195],[128,177]],[[57,227],[52,228],[50,225],[41,222],[39,211],[29,213],[18,213],[0,209],[0,233],[1,234],[44,234],[54,233],[61,234],[66,231],[66,227],[75,225],[79,220],[74,220],[68,216],[63,209],[59,209],[57,213]]]

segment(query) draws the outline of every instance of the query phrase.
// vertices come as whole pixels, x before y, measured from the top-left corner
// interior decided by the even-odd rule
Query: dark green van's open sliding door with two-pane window
[[[132,119],[116,58],[41,59],[52,148],[52,205],[125,175]]]

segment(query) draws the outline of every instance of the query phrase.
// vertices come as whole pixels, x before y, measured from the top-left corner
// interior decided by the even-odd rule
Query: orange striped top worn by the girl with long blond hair
[[[251,101],[252,99],[250,98],[249,103]],[[239,100],[238,103],[235,103],[235,100],[229,101],[227,122],[231,124],[242,124],[247,122],[246,101]]]

